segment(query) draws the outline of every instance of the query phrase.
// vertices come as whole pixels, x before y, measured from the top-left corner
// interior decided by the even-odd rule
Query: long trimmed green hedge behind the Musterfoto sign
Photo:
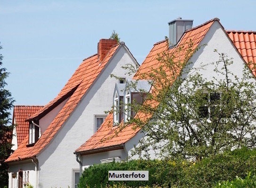
[[[148,170],[149,181],[108,181],[109,170]],[[238,149],[197,163],[186,160],[131,160],[122,163],[95,164],[85,169],[78,188],[127,187],[211,188],[219,181],[245,178],[256,172],[256,149]]]

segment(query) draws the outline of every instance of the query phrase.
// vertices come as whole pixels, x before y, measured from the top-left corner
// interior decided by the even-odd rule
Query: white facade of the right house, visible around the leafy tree
[[[233,64],[229,66],[229,70],[239,78],[242,77],[245,62],[219,22],[215,21],[211,25],[198,47],[200,47],[200,49],[190,58],[189,62],[191,62],[191,68],[199,68],[202,65],[207,64],[204,66],[204,69],[198,70],[199,73],[202,74],[203,78],[206,78],[207,80],[213,80],[213,77],[224,79],[223,75],[217,75],[213,71],[215,69],[215,65],[211,63],[217,62],[220,59],[219,55],[214,52],[215,49],[219,53],[224,53],[228,55],[229,58],[233,58]],[[222,66],[220,66],[220,68],[221,67]],[[255,80],[252,78],[250,81]],[[135,136],[132,137],[132,139],[125,142],[124,149],[118,150],[119,152],[107,151],[82,156],[83,168],[91,164],[99,164],[100,160],[107,157],[121,157],[121,159],[127,159],[127,157],[129,157],[129,159],[137,159],[138,156],[132,156],[132,149],[134,149],[134,145],[138,145],[140,139],[144,136],[145,133],[143,133],[143,131],[139,131]],[[126,154],[124,155],[124,153]],[[153,150],[149,151],[149,155],[152,159],[157,158]]]

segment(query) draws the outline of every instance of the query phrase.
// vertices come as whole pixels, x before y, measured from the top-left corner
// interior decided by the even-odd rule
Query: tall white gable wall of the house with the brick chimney
[[[72,169],[79,169],[74,150],[93,134],[94,115],[111,109],[117,80],[109,75],[127,77],[121,68],[127,63],[135,64],[125,47],[121,46],[55,138],[38,155],[40,188],[72,187]]]

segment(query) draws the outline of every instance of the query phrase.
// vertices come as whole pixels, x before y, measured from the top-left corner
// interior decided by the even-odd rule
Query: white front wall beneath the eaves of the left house
[[[9,165],[9,188],[11,188],[12,173],[17,173],[19,170],[23,170],[23,175],[25,171],[29,172],[29,182],[36,188],[35,164],[31,160]]]

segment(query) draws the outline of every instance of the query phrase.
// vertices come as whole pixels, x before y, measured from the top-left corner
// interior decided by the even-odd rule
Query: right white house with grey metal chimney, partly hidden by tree
[[[162,52],[175,52],[176,49],[184,45],[184,49],[188,48],[187,42],[190,40],[193,42],[192,49],[200,47],[195,54],[193,54],[189,62],[191,67],[200,67],[205,63],[204,70],[200,70],[203,78],[212,80],[213,77],[220,78],[214,71],[214,65],[212,62],[219,60],[219,55],[214,52],[217,49],[220,53],[225,53],[229,57],[233,58],[233,64],[230,67],[232,71],[238,77],[242,76],[242,70],[245,63],[252,64],[249,66],[250,71],[256,76],[256,70],[254,63],[256,63],[256,32],[255,31],[225,31],[220,24],[219,19],[212,19],[197,27],[192,27],[192,20],[176,19],[169,23],[170,26],[170,48],[166,46],[166,40],[157,42],[147,55],[144,62],[141,64],[139,70],[134,76],[134,79],[140,78],[140,74],[150,71],[150,67],[155,69],[159,66],[157,60],[158,54]],[[206,44],[206,45],[205,45]],[[182,58],[182,57],[181,57]],[[181,60],[182,61],[182,60]],[[249,71],[249,69],[248,69]],[[124,88],[126,92],[126,88]],[[125,103],[129,103],[131,95],[124,93],[121,97],[118,97],[118,93],[114,93],[113,104],[116,106],[119,101],[122,100]],[[125,99],[125,94],[127,99]],[[128,100],[129,99],[129,100]],[[116,102],[117,101],[117,102]],[[128,110],[129,111],[129,110]],[[127,112],[127,111],[126,111]],[[83,143],[78,149],[75,150],[76,156],[81,161],[81,168],[85,168],[92,164],[111,162],[114,159],[116,161],[127,159],[132,157],[131,151],[134,145],[137,145],[142,137],[145,136],[143,130],[137,128],[132,129],[132,125],[125,126],[119,132],[115,123],[123,124],[120,118],[115,118],[116,114],[109,114],[99,130],[91,136],[89,140]],[[140,118],[143,118],[143,114],[138,114]],[[122,117],[125,117],[123,115]],[[124,118],[125,121],[125,118]],[[119,132],[116,135],[116,132]],[[151,153],[151,157],[156,157]],[[137,158],[133,156],[132,158]]]

